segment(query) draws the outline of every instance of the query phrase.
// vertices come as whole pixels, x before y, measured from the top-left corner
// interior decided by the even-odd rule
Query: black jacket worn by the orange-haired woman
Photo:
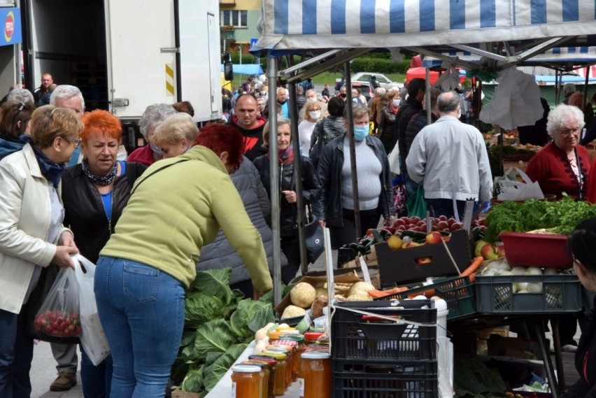
[[[83,166],[76,164],[62,173],[64,225],[73,232],[80,254],[92,263],[97,262],[99,252],[113,234],[116,222],[130,198],[134,181],[147,169],[141,163],[125,164],[125,173],[114,179],[112,187],[111,221],[106,217],[99,191],[83,173]]]

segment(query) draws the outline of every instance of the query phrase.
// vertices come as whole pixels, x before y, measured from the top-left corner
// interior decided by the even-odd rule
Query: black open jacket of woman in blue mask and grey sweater
[[[341,211],[341,168],[343,167],[343,138],[335,138],[325,146],[318,165],[317,173],[322,187],[322,204],[325,206],[325,222],[332,227],[343,226],[343,215]],[[383,148],[383,143],[374,137],[367,136],[367,145],[374,150],[374,153],[381,162],[382,171],[379,175],[381,180],[381,195],[378,198],[378,208],[385,219],[395,215],[393,205],[393,187],[389,170],[389,161]]]

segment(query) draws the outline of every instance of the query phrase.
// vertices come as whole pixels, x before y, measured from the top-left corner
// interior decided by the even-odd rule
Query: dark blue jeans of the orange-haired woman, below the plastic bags
[[[97,365],[91,362],[83,345],[80,345],[80,381],[85,398],[108,398],[112,384],[113,363],[112,356]]]

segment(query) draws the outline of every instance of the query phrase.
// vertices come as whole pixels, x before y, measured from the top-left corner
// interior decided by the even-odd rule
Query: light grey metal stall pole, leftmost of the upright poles
[[[277,164],[277,62],[267,58],[267,80],[269,80],[269,173],[271,174],[271,232],[273,236],[274,303],[281,301],[281,234],[279,225],[279,167]],[[271,90],[273,90],[271,92]]]

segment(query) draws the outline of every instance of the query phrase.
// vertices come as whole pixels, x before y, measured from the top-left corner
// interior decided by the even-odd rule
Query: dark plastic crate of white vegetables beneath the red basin
[[[538,293],[513,293],[513,283],[541,283]],[[576,275],[476,276],[479,313],[574,313],[581,310],[581,284]]]

